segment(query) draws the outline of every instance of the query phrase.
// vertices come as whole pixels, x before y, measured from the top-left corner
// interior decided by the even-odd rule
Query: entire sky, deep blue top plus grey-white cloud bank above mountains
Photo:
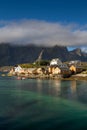
[[[87,0],[0,0],[0,43],[87,52]]]

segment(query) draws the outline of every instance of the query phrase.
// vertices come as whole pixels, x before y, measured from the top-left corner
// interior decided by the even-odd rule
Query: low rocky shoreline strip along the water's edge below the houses
[[[72,74],[72,75],[62,75],[62,74],[34,74],[34,73],[10,73],[12,67],[3,67],[1,69],[1,76],[15,76],[23,79],[52,79],[52,80],[85,80],[87,81],[87,71],[82,73]]]

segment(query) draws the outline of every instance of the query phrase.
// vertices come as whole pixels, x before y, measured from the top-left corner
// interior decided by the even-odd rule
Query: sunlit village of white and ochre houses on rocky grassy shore
[[[59,58],[54,58],[50,62],[43,61],[41,52],[34,63],[12,67],[8,76],[16,76],[17,79],[87,80],[87,70],[79,60],[62,63]]]

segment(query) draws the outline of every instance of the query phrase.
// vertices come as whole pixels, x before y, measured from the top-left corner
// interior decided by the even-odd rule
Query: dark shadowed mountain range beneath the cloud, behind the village
[[[0,44],[0,66],[34,62],[42,50],[42,59],[44,60],[59,58],[61,61],[87,61],[87,53],[83,53],[79,48],[69,52],[67,47],[57,45],[53,47],[42,47],[32,44],[23,46]]]

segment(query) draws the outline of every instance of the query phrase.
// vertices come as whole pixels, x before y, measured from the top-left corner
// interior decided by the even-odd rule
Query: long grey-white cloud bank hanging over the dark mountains
[[[87,25],[63,25],[39,20],[0,21],[0,43],[36,45],[87,45]]]

